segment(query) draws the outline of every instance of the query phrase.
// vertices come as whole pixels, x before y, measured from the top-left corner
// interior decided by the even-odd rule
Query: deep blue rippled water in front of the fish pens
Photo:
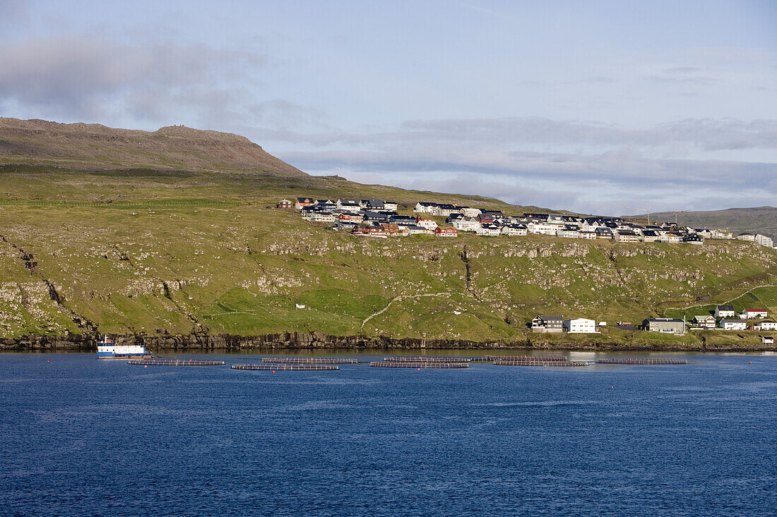
[[[777,356],[681,357],[271,373],[2,354],[0,514],[775,515]]]

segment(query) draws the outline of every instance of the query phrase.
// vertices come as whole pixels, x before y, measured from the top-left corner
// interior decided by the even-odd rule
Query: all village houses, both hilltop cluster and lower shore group
[[[772,238],[763,234],[744,232],[733,235],[725,230],[693,228],[676,222],[637,224],[621,217],[580,217],[550,213],[523,213],[507,216],[500,210],[486,210],[448,203],[420,201],[412,214],[400,214],[399,203],[387,200],[316,200],[298,197],[280,200],[279,209],[298,210],[304,220],[328,224],[334,231],[346,231],[356,236],[389,238],[409,235],[435,235],[442,238],[458,237],[469,232],[483,237],[521,237],[528,234],[549,235],[557,238],[606,239],[636,243],[663,242],[671,244],[703,245],[706,239],[737,239],[773,248]],[[437,220],[444,217],[443,227]],[[684,335],[686,331],[720,328],[728,331],[777,331],[777,322],[765,320],[765,309],[744,309],[739,317],[733,306],[718,305],[713,313],[696,315],[691,321],[671,317],[646,318],[639,325],[618,321],[616,328],[632,331],[653,331]],[[758,321],[757,321],[758,320]],[[585,317],[565,319],[560,315],[538,315],[528,326],[532,332],[596,334],[607,325]],[[773,344],[772,336],[761,335],[761,342]]]

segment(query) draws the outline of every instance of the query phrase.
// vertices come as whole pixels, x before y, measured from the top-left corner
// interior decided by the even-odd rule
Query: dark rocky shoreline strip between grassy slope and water
[[[0,352],[95,352],[103,334],[45,336],[28,335],[0,338]],[[109,335],[116,342],[144,345],[152,352],[214,350],[563,350],[568,352],[777,352],[777,345],[753,343],[667,343],[591,341],[532,342],[530,338],[514,342],[472,342],[455,339],[390,338],[387,336],[336,336],[322,332],[284,332],[279,334],[240,335]]]

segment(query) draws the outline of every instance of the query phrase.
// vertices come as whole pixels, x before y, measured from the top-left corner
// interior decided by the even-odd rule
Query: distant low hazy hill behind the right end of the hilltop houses
[[[650,218],[674,221],[674,212],[651,213]],[[726,228],[736,234],[750,231],[777,239],[777,208],[774,206],[680,212],[678,223],[692,227]]]

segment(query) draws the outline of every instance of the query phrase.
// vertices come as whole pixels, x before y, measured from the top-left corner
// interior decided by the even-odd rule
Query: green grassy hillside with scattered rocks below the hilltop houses
[[[8,165],[0,332],[322,331],[552,345],[562,338],[528,334],[535,314],[638,321],[777,283],[777,254],[743,242],[371,240],[273,207],[293,196],[392,199],[405,212],[418,200],[535,209],[308,176]],[[773,290],[758,296],[777,310]],[[599,339],[648,338],[659,339],[614,329]]]

